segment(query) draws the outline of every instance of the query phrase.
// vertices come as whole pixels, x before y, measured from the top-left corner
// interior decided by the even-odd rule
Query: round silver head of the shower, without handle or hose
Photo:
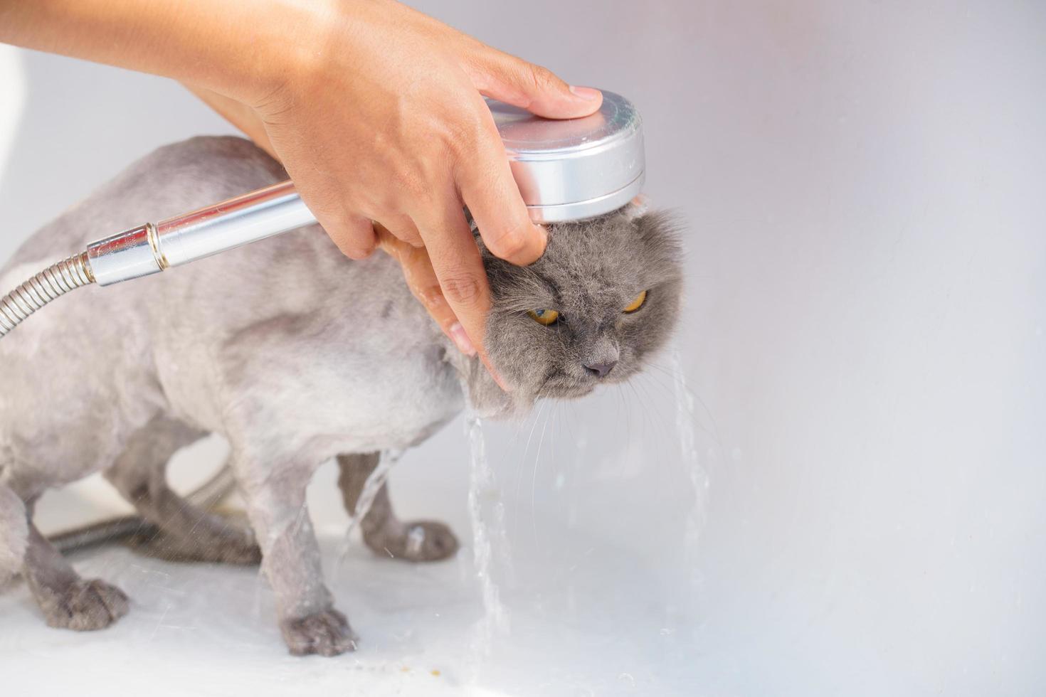
[[[602,215],[629,203],[642,188],[642,120],[619,94],[605,91],[595,114],[564,120],[541,118],[493,99],[487,106],[533,222]]]

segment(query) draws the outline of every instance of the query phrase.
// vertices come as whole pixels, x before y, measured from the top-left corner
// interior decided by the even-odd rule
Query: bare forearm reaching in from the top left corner
[[[286,76],[295,47],[315,48],[309,33],[326,11],[310,0],[0,0],[0,42],[253,103]]]

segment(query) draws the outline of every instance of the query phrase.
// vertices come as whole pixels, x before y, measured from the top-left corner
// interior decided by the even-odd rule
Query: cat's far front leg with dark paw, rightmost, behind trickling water
[[[349,515],[356,515],[356,504],[363,492],[367,477],[378,466],[380,455],[338,456],[338,487]],[[370,510],[360,521],[363,541],[376,554],[406,561],[437,561],[453,556],[458,550],[457,537],[436,520],[400,520],[389,501],[388,484],[374,496]]]

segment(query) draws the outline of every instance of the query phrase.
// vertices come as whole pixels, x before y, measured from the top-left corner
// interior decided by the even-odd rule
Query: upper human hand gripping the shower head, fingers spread
[[[263,144],[347,256],[373,251],[371,222],[387,229],[382,246],[414,295],[460,350],[484,357],[490,292],[462,206],[508,261],[536,260],[545,234],[481,95],[554,118],[588,115],[601,95],[390,0],[318,19],[292,30],[290,50],[274,47],[279,79],[245,101]]]

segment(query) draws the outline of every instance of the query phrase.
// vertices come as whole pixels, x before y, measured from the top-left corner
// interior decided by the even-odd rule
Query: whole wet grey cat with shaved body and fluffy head
[[[286,177],[237,138],[162,147],[30,238],[0,287],[113,231]],[[419,444],[467,399],[511,417],[539,397],[583,396],[639,371],[676,323],[680,248],[661,215],[628,206],[553,225],[527,268],[483,255],[487,350],[510,394],[445,339],[393,260],[350,261],[315,226],[89,286],[31,318],[0,341],[0,581],[21,572],[55,627],[98,629],[127,612],[122,591],[78,577],[31,520],[47,488],[101,471],[160,527],[170,556],[250,563],[260,548],[292,653],[355,648],[305,510],[316,467],[338,458],[351,511],[376,452]],[[170,456],[210,433],[230,443],[257,544],[166,485]],[[371,548],[407,558],[457,547],[446,526],[396,519],[384,490],[362,527]]]

